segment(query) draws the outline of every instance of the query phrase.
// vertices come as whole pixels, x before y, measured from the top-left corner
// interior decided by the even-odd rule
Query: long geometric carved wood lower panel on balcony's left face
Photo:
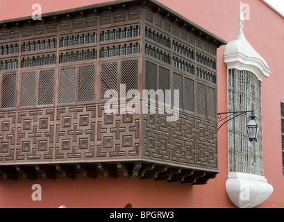
[[[0,163],[139,155],[139,116],[105,114],[103,109],[89,105],[0,113]]]

